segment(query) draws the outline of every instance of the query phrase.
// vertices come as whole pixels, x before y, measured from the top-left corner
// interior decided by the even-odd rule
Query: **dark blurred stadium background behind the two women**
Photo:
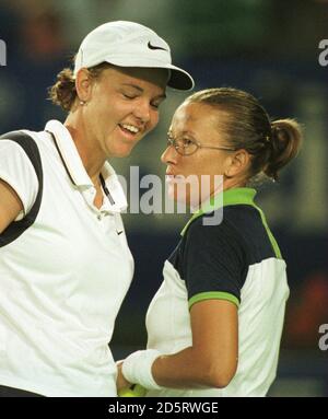
[[[131,20],[169,42],[176,63],[196,89],[229,85],[259,97],[272,117],[295,117],[305,127],[297,160],[259,202],[288,261],[288,304],[278,377],[271,396],[327,396],[328,351],[319,326],[328,324],[328,67],[318,62],[328,39],[326,0],[0,0],[0,132],[42,130],[65,114],[47,101],[47,88],[69,65],[79,43],[96,25]],[[125,160],[113,161],[164,176],[160,155],[175,107],[184,94],[168,92],[156,130]],[[144,189],[140,190],[143,194]],[[117,319],[117,359],[145,345],[144,314],[157,290],[164,259],[175,247],[183,216],[126,214],[136,277]]]

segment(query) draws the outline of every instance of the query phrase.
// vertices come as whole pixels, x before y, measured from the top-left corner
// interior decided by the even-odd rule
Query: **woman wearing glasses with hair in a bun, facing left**
[[[201,185],[207,175],[210,197],[195,202],[187,188],[186,202],[199,210],[165,261],[147,315],[148,349],[120,364],[119,388],[139,384],[147,396],[267,394],[289,287],[250,185],[276,181],[301,137],[296,121],[271,121],[255,97],[234,89],[198,92],[176,110],[162,155],[168,191],[179,200],[176,179],[194,175]],[[223,193],[215,190],[215,175]],[[206,222],[222,211],[221,222]]]

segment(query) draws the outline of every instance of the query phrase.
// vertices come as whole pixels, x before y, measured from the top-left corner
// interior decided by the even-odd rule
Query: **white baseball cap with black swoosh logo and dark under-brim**
[[[167,85],[177,90],[191,90],[191,75],[172,65],[167,43],[154,31],[139,23],[116,21],[104,23],[82,40],[75,57],[74,75],[81,68],[101,62],[119,67],[147,67],[169,70]]]

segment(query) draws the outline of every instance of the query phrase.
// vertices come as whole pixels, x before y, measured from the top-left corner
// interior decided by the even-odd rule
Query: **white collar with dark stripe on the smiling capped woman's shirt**
[[[82,189],[94,187],[69,130],[59,120],[55,119],[46,124],[45,130],[54,135],[56,148],[71,182]],[[114,168],[108,162],[105,162],[101,174],[105,183],[103,189],[107,197],[104,200],[102,210],[109,212],[124,211],[128,207],[127,198]]]

